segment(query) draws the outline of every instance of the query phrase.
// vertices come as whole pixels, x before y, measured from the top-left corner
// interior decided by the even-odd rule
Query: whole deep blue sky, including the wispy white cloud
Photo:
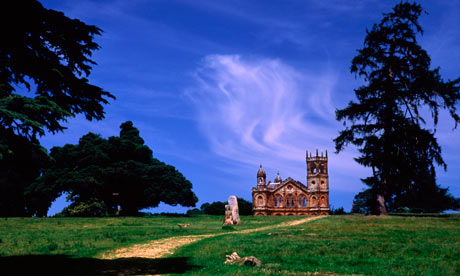
[[[262,163],[305,182],[305,150],[328,150],[330,203],[351,208],[369,171],[357,151],[334,154],[335,109],[362,84],[350,74],[366,28],[399,1],[50,0],[41,3],[96,25],[101,49],[90,81],[117,97],[102,121],[77,116],[46,135],[51,148],[87,132],[118,135],[131,120],[154,157],[174,165],[204,202],[251,198]],[[460,76],[460,2],[421,1],[419,43],[445,79]],[[460,130],[442,114],[437,137],[448,164],[438,182],[460,196]],[[49,215],[67,203],[61,197]],[[152,212],[183,212],[160,205]]]

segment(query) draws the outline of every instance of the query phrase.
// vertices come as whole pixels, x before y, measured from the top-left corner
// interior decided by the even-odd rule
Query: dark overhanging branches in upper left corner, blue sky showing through
[[[61,123],[75,114],[102,119],[102,104],[113,96],[87,79],[101,30],[38,1],[2,1],[0,7],[0,126],[35,137],[64,130]],[[21,95],[21,87],[32,95]]]

